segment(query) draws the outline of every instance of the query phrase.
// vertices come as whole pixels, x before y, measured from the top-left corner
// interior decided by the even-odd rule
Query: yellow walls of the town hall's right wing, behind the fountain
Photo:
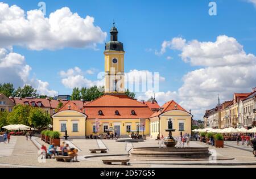
[[[180,123],[183,123],[184,129],[182,130],[182,133],[191,135],[191,118],[192,115],[184,112],[183,110],[169,110],[163,114],[161,114],[159,117],[153,117],[150,118],[151,123],[151,133],[150,136],[152,138],[156,138],[158,134],[160,136],[167,137],[168,132],[165,131],[168,129],[168,120],[171,118],[172,121],[172,128],[176,129],[175,132],[172,132],[172,135],[174,137],[177,137],[180,135],[179,127]]]

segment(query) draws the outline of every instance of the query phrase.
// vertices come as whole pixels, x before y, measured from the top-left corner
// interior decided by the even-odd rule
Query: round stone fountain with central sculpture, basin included
[[[166,147],[134,147],[131,151],[130,157],[134,160],[205,160],[210,156],[208,147],[175,147],[176,140],[172,137],[172,132],[175,129],[172,128],[172,121],[168,121],[169,135],[164,139]]]

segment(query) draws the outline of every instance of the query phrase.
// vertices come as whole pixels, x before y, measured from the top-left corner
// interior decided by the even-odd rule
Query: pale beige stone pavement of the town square
[[[40,138],[35,138],[38,142],[38,146],[45,144]],[[62,141],[61,141],[62,142]],[[74,163],[64,163],[57,162],[55,159],[46,159],[46,163],[42,163],[42,160],[38,160],[38,148],[32,143],[31,140],[26,140],[23,136],[12,137],[10,144],[0,143],[0,167],[102,167],[108,168],[110,165],[102,164],[101,159],[103,157],[94,157],[89,159],[84,159],[84,156],[88,155],[101,155],[101,154],[90,154],[89,149],[99,148],[97,140],[94,139],[74,139],[69,140],[74,146],[80,148],[79,160],[80,162]],[[127,148],[131,145],[133,147],[159,147],[158,141],[148,138],[145,142],[139,143],[125,143],[125,142],[115,142],[115,140],[101,140],[101,146],[104,144],[108,148],[108,154],[127,154]],[[246,151],[236,147],[236,143],[227,143],[224,148],[215,148],[208,146],[201,142],[190,142],[191,147],[209,147],[209,150],[214,150],[217,156],[228,156],[234,157],[235,160],[232,161],[218,161],[218,162],[253,162],[256,158],[253,157],[251,151]],[[231,146],[231,147],[230,147]],[[245,146],[242,146],[245,147]],[[249,147],[247,149],[250,149]],[[113,157],[113,156],[112,156]],[[115,156],[125,158],[127,156]],[[205,161],[202,161],[204,163]],[[158,163],[158,164],[155,164]],[[172,163],[172,165],[170,165]],[[126,167],[225,167],[225,166],[209,166],[209,165],[193,165],[193,161],[187,161],[190,165],[184,165],[181,161],[171,162],[171,161],[158,161],[151,162],[148,161],[135,161],[131,160],[131,165]],[[198,161],[197,161],[198,163]],[[122,165],[111,165],[111,167],[123,167]],[[230,166],[229,166],[230,167]],[[232,167],[256,167],[256,165],[240,165]]]

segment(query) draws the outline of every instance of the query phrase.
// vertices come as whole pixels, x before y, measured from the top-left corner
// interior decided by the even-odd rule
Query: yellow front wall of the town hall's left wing
[[[65,135],[65,130],[61,131],[61,124],[65,124],[67,133],[70,137],[85,137],[85,121],[86,116],[75,110],[64,110],[56,113],[53,118],[53,130],[59,131],[62,136]],[[77,131],[74,129],[77,123]]]

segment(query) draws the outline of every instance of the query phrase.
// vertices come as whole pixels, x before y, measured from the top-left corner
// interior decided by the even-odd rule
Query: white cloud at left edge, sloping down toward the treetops
[[[39,79],[30,79],[31,67],[25,57],[7,49],[0,49],[0,83],[13,83],[15,87],[30,84],[41,95],[54,96],[56,91],[48,90],[49,83]]]

